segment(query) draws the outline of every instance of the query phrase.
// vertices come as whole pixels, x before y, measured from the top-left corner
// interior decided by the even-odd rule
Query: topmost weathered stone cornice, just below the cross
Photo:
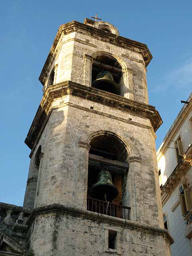
[[[57,54],[57,51],[58,51],[57,45],[58,45],[58,42],[60,42],[61,36],[70,34],[72,32],[79,32],[82,34],[86,34],[91,37],[97,38],[98,40],[109,42],[110,44],[114,44],[122,48],[127,48],[130,50],[133,50],[134,52],[138,52],[142,54],[145,62],[145,66],[147,66],[149,62],[152,60],[152,54],[150,53],[146,44],[142,44],[140,42],[137,42],[128,38],[124,38],[122,36],[116,36],[115,34],[108,33],[104,30],[100,30],[98,28],[94,28],[92,26],[89,26],[74,20],[72,22],[68,22],[66,24],[61,25],[58,29],[53,45],[51,47],[51,50],[48,54],[48,57],[46,59],[46,62],[44,64],[44,67],[39,77],[39,80],[43,85],[46,80],[45,74],[48,70],[48,67],[50,67],[50,65],[53,63],[54,58]]]

